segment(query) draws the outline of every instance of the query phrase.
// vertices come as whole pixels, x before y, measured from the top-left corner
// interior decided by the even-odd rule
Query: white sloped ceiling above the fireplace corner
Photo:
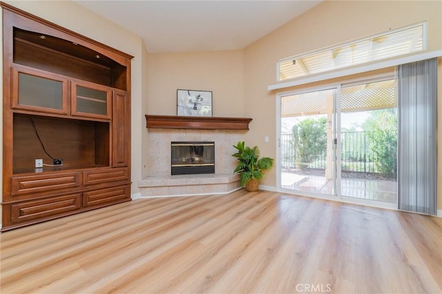
[[[321,1],[76,2],[142,37],[149,53],[164,53],[242,49]]]

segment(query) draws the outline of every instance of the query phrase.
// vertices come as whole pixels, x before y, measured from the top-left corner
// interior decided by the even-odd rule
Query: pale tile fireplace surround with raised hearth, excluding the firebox
[[[191,194],[223,194],[240,188],[239,177],[233,174],[235,153],[244,130],[149,129],[148,172],[138,183],[142,197]],[[172,141],[215,142],[215,174],[171,176]]]

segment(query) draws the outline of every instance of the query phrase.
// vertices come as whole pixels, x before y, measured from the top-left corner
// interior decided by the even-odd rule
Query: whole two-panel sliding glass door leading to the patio
[[[280,97],[280,188],[397,203],[396,80]]]

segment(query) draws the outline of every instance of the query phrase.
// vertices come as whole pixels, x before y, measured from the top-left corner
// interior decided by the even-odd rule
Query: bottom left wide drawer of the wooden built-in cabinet
[[[55,217],[59,214],[79,210],[81,208],[81,193],[55,196],[15,203],[11,205],[12,223],[23,223]]]

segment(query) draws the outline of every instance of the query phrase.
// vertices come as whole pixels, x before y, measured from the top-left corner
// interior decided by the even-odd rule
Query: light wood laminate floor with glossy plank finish
[[[3,232],[1,293],[442,293],[442,219],[276,192]]]

